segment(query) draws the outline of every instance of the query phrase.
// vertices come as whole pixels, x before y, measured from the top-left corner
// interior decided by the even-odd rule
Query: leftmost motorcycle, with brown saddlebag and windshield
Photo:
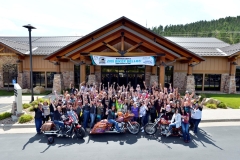
[[[44,123],[41,130],[47,136],[72,137],[73,133],[77,138],[83,139],[84,128],[78,123],[77,116],[73,111],[67,112],[68,117],[63,120],[64,129],[57,127],[53,122]]]

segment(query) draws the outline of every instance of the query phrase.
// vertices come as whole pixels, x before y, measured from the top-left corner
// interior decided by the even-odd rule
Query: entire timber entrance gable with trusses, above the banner
[[[45,60],[91,63],[91,56],[154,56],[156,65],[181,60],[204,61],[201,56],[159,36],[136,22],[121,17],[45,57]]]

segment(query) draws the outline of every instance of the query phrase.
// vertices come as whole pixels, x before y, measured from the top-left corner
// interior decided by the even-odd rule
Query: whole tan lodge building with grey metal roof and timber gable
[[[32,37],[33,86],[60,92],[72,82],[154,81],[180,90],[240,91],[240,44],[162,37],[121,17],[86,36]],[[0,37],[0,88],[30,88],[28,37]]]

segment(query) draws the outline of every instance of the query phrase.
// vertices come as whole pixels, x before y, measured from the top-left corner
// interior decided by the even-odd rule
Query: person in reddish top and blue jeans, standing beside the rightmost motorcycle
[[[189,114],[185,111],[185,109],[181,108],[182,111],[182,133],[183,133],[183,140],[185,143],[190,142],[190,135],[189,135]]]

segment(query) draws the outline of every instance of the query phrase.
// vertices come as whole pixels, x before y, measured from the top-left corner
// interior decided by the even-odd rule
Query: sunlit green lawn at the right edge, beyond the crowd
[[[233,109],[240,109],[239,94],[206,94],[207,98],[217,99]],[[220,108],[220,107],[219,107]]]

